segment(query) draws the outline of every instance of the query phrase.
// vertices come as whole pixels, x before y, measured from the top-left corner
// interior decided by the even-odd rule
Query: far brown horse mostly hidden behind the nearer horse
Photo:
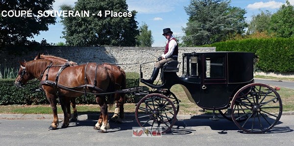
[[[72,61],[68,61],[67,59],[64,58],[60,58],[60,57],[56,57],[56,56],[52,56],[52,55],[44,55],[44,54],[38,54],[35,57],[35,60],[37,59],[48,59],[51,60],[52,62],[59,64],[59,65],[64,65],[66,63],[70,64],[70,65],[77,65],[77,63],[72,62]],[[116,65],[111,65],[108,63],[103,63],[102,66],[104,66],[105,68],[108,69],[108,71],[110,71],[113,76],[114,76],[114,81],[115,81],[115,90],[122,90],[126,88],[126,77],[125,77],[125,72],[123,71],[122,68],[120,68],[119,66]],[[73,107],[73,121],[77,120],[77,110],[76,110],[76,103],[75,103],[75,99],[71,99],[72,101],[72,107]],[[116,101],[116,108],[115,108],[115,112],[113,117],[111,118],[112,121],[118,121],[121,122],[121,119],[124,118],[124,111],[123,111],[123,103],[125,101],[124,99],[124,93],[119,93],[119,94],[115,94],[115,101]],[[68,108],[68,112],[69,114],[71,114],[70,112],[70,108]],[[118,117],[119,115],[119,117]]]

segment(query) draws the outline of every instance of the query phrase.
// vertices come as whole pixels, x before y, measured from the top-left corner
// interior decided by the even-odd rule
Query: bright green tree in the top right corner
[[[294,37],[294,6],[286,0],[280,9],[271,16],[270,32],[276,34],[276,37],[288,38]]]

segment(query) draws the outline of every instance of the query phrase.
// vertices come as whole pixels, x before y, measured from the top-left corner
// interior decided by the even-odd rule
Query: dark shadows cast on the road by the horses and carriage
[[[93,116],[93,115],[92,115]],[[97,117],[95,117],[97,116]],[[68,128],[75,127],[75,126],[92,126],[97,123],[98,115],[95,115],[88,120],[78,120],[76,122],[71,122]],[[109,117],[112,115],[110,114]],[[270,118],[269,118],[270,119]],[[273,133],[286,133],[294,131],[289,126],[283,127],[279,126],[283,122],[278,122],[273,128],[271,128],[265,134],[273,134]],[[60,123],[61,124],[61,123]],[[124,131],[124,130],[131,130],[133,127],[138,127],[138,123],[135,120],[134,116],[126,116],[122,123],[120,122],[109,122],[110,129],[107,130],[107,133],[117,132],[117,131]],[[178,120],[172,127],[172,130],[165,133],[167,135],[186,135],[192,134],[199,130],[211,130],[212,132],[217,132],[219,134],[227,134],[228,131],[237,131],[239,133],[245,133],[244,131],[240,130],[239,127],[232,121],[228,121],[226,119],[221,118],[219,121],[211,121],[209,117],[201,116],[193,116],[191,119],[184,119]],[[209,132],[211,132],[209,131]]]

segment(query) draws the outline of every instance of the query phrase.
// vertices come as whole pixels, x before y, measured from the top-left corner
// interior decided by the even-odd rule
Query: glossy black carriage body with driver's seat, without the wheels
[[[226,109],[240,88],[253,83],[253,57],[247,52],[184,53],[182,76],[164,68],[161,85],[141,82],[155,89],[171,89],[180,84],[189,100],[199,107]]]

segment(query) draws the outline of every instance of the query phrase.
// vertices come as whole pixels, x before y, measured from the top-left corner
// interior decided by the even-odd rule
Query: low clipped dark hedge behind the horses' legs
[[[25,85],[25,88],[17,88],[14,85],[15,79],[0,79],[0,105],[39,105],[49,104],[44,92],[35,91],[39,88],[39,81],[29,81],[31,84]],[[139,73],[126,73],[126,88],[139,86]],[[134,102],[134,96],[126,94],[126,102]],[[77,104],[97,104],[93,95],[76,98]]]

